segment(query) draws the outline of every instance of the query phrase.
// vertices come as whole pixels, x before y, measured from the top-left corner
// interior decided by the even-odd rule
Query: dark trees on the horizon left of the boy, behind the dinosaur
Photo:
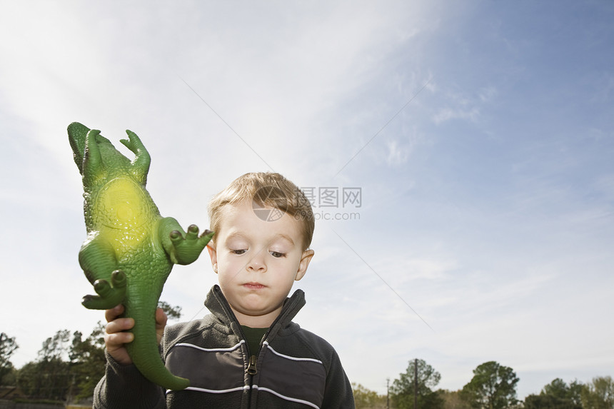
[[[181,317],[181,307],[158,304],[169,319]],[[0,386],[16,386],[36,400],[76,402],[89,399],[104,375],[104,325],[99,322],[91,334],[59,330],[47,338],[36,360],[17,369],[11,355],[19,348],[14,337],[0,333]]]

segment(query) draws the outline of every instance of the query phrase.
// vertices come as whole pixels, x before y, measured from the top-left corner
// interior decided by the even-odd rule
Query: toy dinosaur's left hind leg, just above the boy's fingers
[[[79,264],[98,294],[83,298],[86,308],[107,310],[124,301],[126,275],[116,270],[115,251],[109,243],[97,236],[87,241],[79,251]]]

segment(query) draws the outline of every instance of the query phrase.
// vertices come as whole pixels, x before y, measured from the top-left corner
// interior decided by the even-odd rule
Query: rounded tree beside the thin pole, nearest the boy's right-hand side
[[[394,405],[398,409],[413,408],[417,400],[418,408],[443,408],[443,399],[431,389],[440,379],[441,375],[424,360],[410,360],[406,372],[392,383]]]

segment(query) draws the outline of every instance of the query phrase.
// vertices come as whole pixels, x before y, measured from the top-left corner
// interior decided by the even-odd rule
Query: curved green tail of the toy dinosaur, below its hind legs
[[[149,310],[149,308],[148,308]],[[126,312],[128,312],[126,310]],[[190,381],[173,375],[163,364],[158,350],[156,324],[151,311],[148,316],[144,310],[131,311],[126,315],[134,318],[134,341],[126,344],[126,349],[137,369],[151,382],[170,390],[182,390]],[[154,308],[155,313],[155,308]]]

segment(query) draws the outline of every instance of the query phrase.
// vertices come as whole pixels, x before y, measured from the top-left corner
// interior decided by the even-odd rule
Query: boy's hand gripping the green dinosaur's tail
[[[106,333],[104,334],[104,345],[114,360],[121,365],[130,365],[132,359],[128,355],[128,351],[124,344],[131,343],[134,340],[134,334],[124,332],[134,327],[134,319],[118,318],[121,313],[124,313],[124,306],[121,304],[110,310],[106,310],[104,317],[106,318]],[[166,327],[166,314],[162,308],[156,310],[156,335],[158,343],[162,339]]]

